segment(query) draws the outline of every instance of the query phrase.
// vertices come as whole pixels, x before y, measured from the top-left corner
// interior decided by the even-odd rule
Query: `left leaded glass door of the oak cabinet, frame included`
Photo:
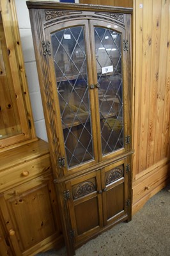
[[[91,56],[88,21],[66,22],[65,28],[47,29],[52,58],[50,73],[57,94],[61,157],[65,172],[81,170],[98,161],[94,92],[90,90]],[[49,36],[50,35],[50,36]]]

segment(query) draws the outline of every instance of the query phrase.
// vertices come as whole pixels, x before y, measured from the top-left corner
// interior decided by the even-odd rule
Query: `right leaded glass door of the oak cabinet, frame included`
[[[91,22],[93,44],[94,84],[96,84],[96,106],[98,122],[99,159],[108,159],[126,150],[127,109],[125,94],[125,31],[118,25]]]

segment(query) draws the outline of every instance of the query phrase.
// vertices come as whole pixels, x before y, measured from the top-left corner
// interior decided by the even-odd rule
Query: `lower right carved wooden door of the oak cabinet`
[[[104,225],[126,218],[128,209],[127,159],[102,169]]]

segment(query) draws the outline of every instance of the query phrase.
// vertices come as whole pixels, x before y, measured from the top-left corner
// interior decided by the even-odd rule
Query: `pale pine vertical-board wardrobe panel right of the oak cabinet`
[[[134,1],[134,179],[169,156],[169,4]]]

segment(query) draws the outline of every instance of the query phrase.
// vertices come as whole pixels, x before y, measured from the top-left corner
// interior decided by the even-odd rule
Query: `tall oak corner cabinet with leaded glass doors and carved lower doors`
[[[132,9],[45,1],[27,1],[27,7],[73,255],[132,216]]]

